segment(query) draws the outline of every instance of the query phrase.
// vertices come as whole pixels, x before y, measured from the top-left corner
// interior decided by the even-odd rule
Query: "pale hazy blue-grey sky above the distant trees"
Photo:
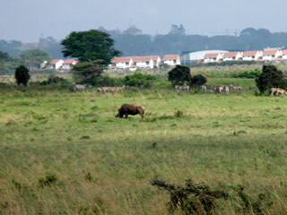
[[[187,34],[222,35],[248,27],[287,31],[286,0],[0,0],[0,39],[64,39],[73,30],[165,34],[183,24]]]

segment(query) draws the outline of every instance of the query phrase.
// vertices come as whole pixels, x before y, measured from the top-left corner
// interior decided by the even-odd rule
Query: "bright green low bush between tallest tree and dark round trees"
[[[144,88],[151,87],[152,82],[157,80],[158,78],[152,74],[143,74],[140,72],[135,72],[133,74],[128,74],[124,77],[124,84],[127,86],[142,86]]]

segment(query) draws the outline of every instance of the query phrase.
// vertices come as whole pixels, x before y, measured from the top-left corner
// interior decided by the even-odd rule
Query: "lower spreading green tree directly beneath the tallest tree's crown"
[[[95,85],[105,69],[106,66],[102,60],[76,64],[72,71],[74,82]]]

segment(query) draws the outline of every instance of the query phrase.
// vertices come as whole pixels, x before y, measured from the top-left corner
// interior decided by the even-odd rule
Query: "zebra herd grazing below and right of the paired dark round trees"
[[[189,90],[189,86],[180,86],[180,85],[175,85],[175,90]],[[229,93],[230,90],[242,90],[242,87],[240,85],[233,85],[230,84],[230,86],[223,86],[223,85],[201,85],[200,90],[206,92],[209,90],[210,92],[216,92],[216,93],[222,93],[226,92]]]

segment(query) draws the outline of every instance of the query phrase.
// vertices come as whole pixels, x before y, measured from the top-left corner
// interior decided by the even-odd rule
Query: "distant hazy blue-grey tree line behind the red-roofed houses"
[[[270,32],[265,29],[248,28],[241,30],[239,36],[221,35],[207,37],[187,35],[182,25],[172,25],[170,32],[162,35],[133,34],[125,30],[105,30],[115,40],[115,48],[123,56],[165,55],[185,51],[205,49],[224,49],[229,51],[262,50],[265,47],[287,47],[287,32]],[[40,38],[37,48],[46,50],[53,58],[62,58],[61,41],[52,37]],[[21,41],[0,39],[0,51],[11,56],[20,56],[25,49],[35,49]]]

